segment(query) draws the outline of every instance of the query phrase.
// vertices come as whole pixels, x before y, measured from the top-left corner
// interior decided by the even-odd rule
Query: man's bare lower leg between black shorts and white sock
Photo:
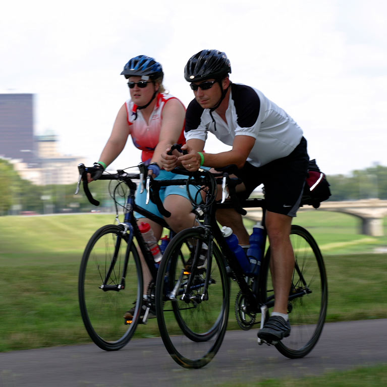
[[[288,297],[294,269],[290,242],[292,217],[266,211],[266,229],[270,241],[270,270],[274,287],[273,312],[287,314]]]

